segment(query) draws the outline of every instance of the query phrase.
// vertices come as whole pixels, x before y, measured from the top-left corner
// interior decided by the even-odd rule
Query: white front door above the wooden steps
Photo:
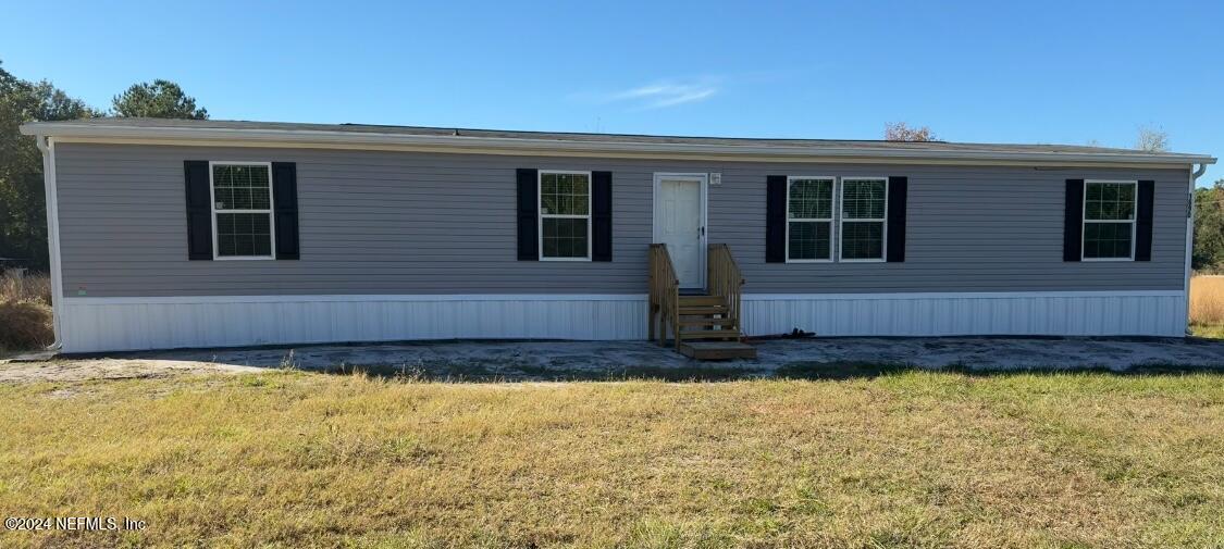
[[[705,287],[704,175],[655,175],[655,242],[667,245],[682,289]]]

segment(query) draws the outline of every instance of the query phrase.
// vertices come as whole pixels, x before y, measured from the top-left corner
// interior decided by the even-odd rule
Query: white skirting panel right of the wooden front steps
[[[744,331],[841,335],[1186,334],[1181,291],[745,295]]]

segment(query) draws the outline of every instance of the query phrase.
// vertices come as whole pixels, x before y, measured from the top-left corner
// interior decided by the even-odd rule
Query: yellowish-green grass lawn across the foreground
[[[43,547],[1220,547],[1212,374],[0,386]]]

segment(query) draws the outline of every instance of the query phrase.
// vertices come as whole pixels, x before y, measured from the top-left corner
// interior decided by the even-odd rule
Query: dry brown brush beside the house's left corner
[[[0,352],[29,351],[55,340],[47,276],[0,276]]]

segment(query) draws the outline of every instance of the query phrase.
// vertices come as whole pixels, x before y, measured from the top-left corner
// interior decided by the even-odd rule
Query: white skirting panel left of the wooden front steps
[[[645,295],[69,297],[64,352],[432,339],[646,339]]]

